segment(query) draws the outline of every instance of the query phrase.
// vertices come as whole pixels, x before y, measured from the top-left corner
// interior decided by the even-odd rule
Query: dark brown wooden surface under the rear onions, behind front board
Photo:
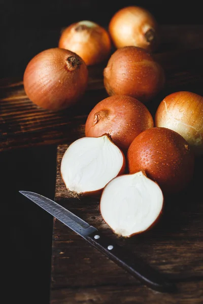
[[[58,35],[49,34],[49,39]],[[166,85],[147,104],[152,113],[160,101],[172,92],[187,90],[203,95],[203,27],[162,26],[161,36],[162,44],[154,57],[165,70]],[[45,32],[43,37],[46,38]],[[103,86],[105,66],[106,62],[90,67],[86,94],[75,107],[59,112],[44,110],[33,104],[25,95],[22,77],[0,81],[0,151],[67,143],[83,136],[88,113],[98,101],[108,96]]]

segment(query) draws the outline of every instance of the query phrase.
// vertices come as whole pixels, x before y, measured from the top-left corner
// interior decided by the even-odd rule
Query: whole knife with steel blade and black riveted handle
[[[161,292],[176,290],[176,285],[163,274],[146,264],[140,257],[126,254],[123,247],[114,244],[110,238],[102,235],[95,227],[90,226],[74,213],[40,194],[28,191],[19,192],[71,228],[145,285]]]

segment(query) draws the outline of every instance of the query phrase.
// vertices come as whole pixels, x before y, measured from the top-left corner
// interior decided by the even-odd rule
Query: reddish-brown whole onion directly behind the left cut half
[[[142,131],[154,126],[147,107],[130,96],[114,95],[100,101],[89,113],[85,135],[98,137],[108,133],[123,151]]]

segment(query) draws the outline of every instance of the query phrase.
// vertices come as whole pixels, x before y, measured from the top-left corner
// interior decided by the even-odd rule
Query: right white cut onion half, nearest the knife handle
[[[148,230],[163,208],[163,194],[144,172],[114,178],[104,188],[100,212],[111,229],[130,237]]]

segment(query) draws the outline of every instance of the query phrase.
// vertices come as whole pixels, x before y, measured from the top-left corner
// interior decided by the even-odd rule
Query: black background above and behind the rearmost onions
[[[0,77],[23,74],[28,61],[44,49],[57,47],[62,27],[90,19],[108,26],[122,7],[147,8],[160,24],[201,24],[201,1],[0,1]],[[47,32],[49,30],[49,32]]]

